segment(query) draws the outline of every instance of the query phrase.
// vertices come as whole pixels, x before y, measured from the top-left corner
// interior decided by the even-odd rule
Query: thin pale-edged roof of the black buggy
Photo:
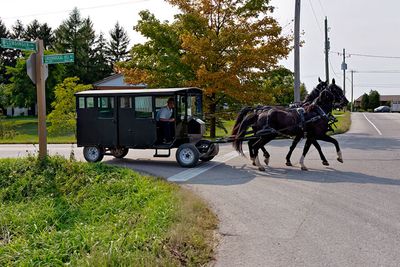
[[[201,94],[202,90],[197,87],[185,88],[157,88],[157,89],[116,89],[116,90],[88,90],[75,93],[76,96],[87,95],[173,95],[180,92]]]

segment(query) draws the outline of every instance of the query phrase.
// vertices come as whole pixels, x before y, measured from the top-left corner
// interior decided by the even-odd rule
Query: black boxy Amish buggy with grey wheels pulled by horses
[[[89,90],[75,94],[77,145],[89,162],[104,155],[123,158],[131,149],[155,149],[154,157],[169,157],[172,148],[182,167],[209,161],[218,145],[203,140],[202,91],[199,88]],[[170,122],[173,140],[163,142],[158,121],[168,99],[175,108]]]

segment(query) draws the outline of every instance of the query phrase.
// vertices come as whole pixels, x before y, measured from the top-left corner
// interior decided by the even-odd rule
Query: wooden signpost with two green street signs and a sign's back
[[[43,40],[36,42],[20,41],[1,38],[0,47],[35,51],[26,61],[26,72],[32,82],[36,84],[38,105],[38,135],[39,135],[39,158],[47,156],[47,133],[46,133],[46,95],[45,84],[49,74],[48,64],[74,62],[74,54],[45,55]]]

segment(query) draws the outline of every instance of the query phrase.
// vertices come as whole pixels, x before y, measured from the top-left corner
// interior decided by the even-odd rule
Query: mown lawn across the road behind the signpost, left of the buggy
[[[34,144],[38,143],[38,121],[36,117],[16,117],[3,120],[7,126],[11,127],[16,135],[11,138],[0,138],[0,144]],[[49,125],[49,124],[47,124]],[[69,144],[76,143],[73,131],[63,135],[48,135],[48,143]]]

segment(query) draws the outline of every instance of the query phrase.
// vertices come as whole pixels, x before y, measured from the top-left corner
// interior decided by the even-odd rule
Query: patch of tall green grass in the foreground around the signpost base
[[[0,266],[199,266],[216,217],[129,169],[50,157],[0,160]]]

